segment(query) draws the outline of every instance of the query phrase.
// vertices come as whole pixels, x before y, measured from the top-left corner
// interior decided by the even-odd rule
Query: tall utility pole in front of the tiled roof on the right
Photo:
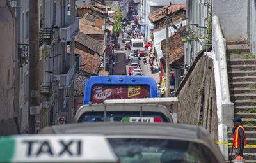
[[[166,39],[165,39],[165,97],[170,97],[170,73],[169,73],[169,17],[168,10],[165,10],[166,18]]]

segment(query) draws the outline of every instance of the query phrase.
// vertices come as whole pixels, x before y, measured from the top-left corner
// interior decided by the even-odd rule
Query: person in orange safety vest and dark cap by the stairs
[[[242,125],[242,119],[240,117],[235,117],[232,120],[234,122],[232,132],[234,134],[233,146],[236,148],[235,158],[237,156],[243,157],[244,145],[247,145],[247,141]]]

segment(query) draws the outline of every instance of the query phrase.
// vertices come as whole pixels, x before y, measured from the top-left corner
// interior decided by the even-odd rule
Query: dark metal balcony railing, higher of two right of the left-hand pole
[[[42,46],[51,44],[53,39],[53,28],[44,28],[39,31],[39,45]]]

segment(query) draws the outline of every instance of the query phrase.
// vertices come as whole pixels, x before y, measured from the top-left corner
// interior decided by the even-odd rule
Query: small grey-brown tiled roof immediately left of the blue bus
[[[77,74],[74,80],[74,96],[83,96],[84,95],[84,86],[86,81],[90,78],[90,76],[83,76],[81,74]]]

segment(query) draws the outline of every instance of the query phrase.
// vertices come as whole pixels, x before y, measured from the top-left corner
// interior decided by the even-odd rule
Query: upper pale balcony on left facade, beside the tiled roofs
[[[68,27],[65,27],[65,28],[60,28],[60,31],[59,31],[60,41],[62,43],[71,41],[78,31],[79,31],[79,19],[76,18],[73,24],[70,24]]]

